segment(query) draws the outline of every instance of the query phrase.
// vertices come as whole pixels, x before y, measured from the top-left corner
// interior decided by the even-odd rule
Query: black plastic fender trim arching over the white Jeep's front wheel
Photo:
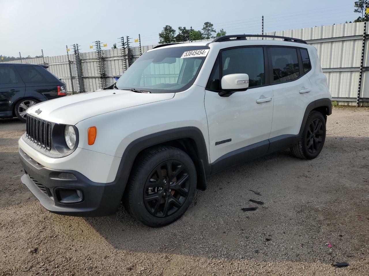
[[[130,176],[133,163],[141,151],[151,146],[184,138],[192,139],[195,142],[196,148],[193,150],[196,152],[198,157],[198,160],[194,160],[197,161],[197,163],[194,162],[197,171],[197,188],[205,190],[205,178],[210,174],[210,164],[208,162],[207,148],[204,136],[197,127],[174,128],[149,134],[132,141],[123,153],[120,165],[118,167],[118,173],[115,177],[115,181],[119,181],[119,183],[122,183],[125,189],[125,185],[127,185],[128,177]]]

